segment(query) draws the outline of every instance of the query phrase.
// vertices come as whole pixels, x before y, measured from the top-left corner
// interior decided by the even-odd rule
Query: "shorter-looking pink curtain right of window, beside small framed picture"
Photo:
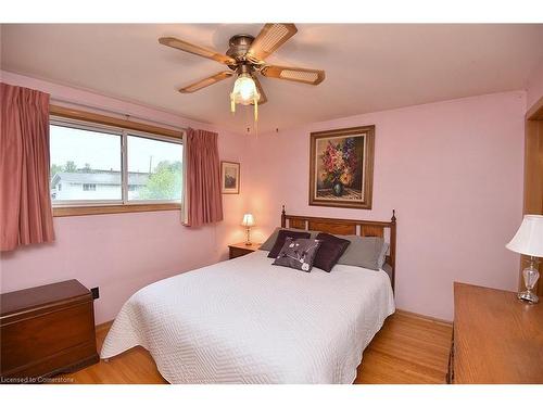
[[[186,226],[198,227],[223,220],[217,137],[216,132],[191,128],[185,136]]]

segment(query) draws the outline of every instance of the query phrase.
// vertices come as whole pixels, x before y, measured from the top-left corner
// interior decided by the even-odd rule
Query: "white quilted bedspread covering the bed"
[[[352,383],[394,311],[384,271],[272,266],[268,252],[150,284],[123,306],[101,351],[147,348],[171,383]]]

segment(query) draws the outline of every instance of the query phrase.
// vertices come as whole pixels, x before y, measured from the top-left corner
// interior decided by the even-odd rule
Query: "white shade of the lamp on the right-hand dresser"
[[[517,233],[505,246],[527,256],[543,257],[543,216],[525,215]]]

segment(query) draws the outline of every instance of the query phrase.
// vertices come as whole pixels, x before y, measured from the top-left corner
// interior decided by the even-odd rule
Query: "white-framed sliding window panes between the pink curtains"
[[[51,117],[50,161],[55,208],[181,201],[180,138]]]

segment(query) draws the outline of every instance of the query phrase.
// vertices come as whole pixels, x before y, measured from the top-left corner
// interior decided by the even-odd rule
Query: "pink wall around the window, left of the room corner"
[[[1,72],[2,81],[50,92],[53,97],[157,120],[172,126],[204,128],[167,112],[97,93],[67,88]],[[222,160],[241,162],[244,179],[244,136],[219,132]],[[243,181],[242,181],[243,182]],[[243,192],[224,195],[225,220],[191,230],[180,225],[177,211],[63,217],[54,219],[56,241],[0,255],[0,290],[78,279],[86,287],[100,287],[94,303],[96,321],[111,320],[138,289],[159,279],[227,257],[227,244],[243,240],[239,226],[244,212]]]

